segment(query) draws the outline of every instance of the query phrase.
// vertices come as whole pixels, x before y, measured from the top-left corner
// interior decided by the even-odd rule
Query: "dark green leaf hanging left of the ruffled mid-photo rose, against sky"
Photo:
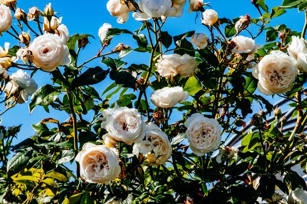
[[[110,78],[121,87],[135,89],[136,79],[126,70],[116,71],[112,69],[110,71]]]

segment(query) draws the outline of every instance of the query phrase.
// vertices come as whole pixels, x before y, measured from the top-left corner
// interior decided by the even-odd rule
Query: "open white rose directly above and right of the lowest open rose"
[[[107,114],[102,127],[105,125],[105,130],[114,139],[132,144],[144,138],[146,123],[136,109],[120,107],[110,113]]]

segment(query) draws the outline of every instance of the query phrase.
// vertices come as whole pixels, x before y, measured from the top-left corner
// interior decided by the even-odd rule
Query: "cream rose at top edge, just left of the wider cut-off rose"
[[[129,7],[122,3],[121,0],[109,0],[106,3],[106,9],[114,17],[118,17],[117,23],[126,23],[129,18],[129,12],[135,10],[132,3],[129,2]]]

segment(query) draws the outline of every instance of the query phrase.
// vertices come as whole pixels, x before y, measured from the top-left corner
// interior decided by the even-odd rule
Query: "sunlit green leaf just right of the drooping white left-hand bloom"
[[[49,84],[39,88],[39,90],[35,91],[31,97],[31,102],[29,103],[30,113],[33,112],[37,105],[47,106],[53,103],[60,93],[61,92],[58,91],[56,87],[53,87]]]

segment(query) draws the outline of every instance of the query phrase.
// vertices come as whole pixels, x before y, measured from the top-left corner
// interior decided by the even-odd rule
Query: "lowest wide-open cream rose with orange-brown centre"
[[[121,173],[118,153],[115,148],[85,143],[76,156],[80,164],[80,175],[90,183],[108,184]]]

